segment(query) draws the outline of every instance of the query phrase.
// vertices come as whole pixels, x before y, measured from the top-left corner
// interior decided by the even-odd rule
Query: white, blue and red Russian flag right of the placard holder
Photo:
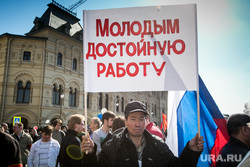
[[[229,140],[226,120],[199,77],[200,133],[204,150],[197,166],[214,166],[221,148]],[[179,156],[186,143],[198,132],[196,91],[169,91],[168,135],[166,143]]]

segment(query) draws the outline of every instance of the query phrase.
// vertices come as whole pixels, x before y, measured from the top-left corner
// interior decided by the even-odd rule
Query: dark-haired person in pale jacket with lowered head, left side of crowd
[[[42,129],[42,138],[36,141],[30,149],[28,167],[47,166],[55,167],[60,144],[52,138],[53,127],[45,125]]]

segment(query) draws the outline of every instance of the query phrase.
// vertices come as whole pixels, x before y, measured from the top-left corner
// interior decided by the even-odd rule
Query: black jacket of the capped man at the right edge
[[[229,142],[225,144],[216,158],[216,167],[236,167],[249,150],[250,147],[246,144],[230,137]]]

